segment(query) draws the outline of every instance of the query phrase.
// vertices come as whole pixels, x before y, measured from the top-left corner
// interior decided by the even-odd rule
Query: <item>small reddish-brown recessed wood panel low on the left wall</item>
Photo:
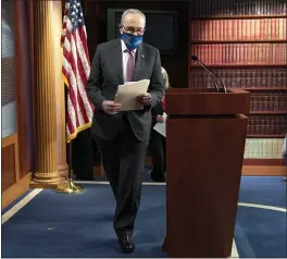
[[[1,159],[1,187],[3,192],[16,183],[15,146],[13,144],[2,148]]]

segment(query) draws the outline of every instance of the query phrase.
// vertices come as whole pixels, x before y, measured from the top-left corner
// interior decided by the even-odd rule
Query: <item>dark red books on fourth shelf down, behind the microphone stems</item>
[[[212,70],[227,87],[287,87],[286,69]],[[214,82],[203,69],[190,71],[190,87],[213,87]],[[287,90],[287,88],[286,88]]]

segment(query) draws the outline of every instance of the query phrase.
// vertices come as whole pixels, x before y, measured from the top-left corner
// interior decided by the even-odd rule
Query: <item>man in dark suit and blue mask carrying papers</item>
[[[116,199],[114,230],[124,252],[135,250],[132,234],[140,202],[150,111],[163,95],[160,53],[142,42],[145,27],[140,11],[126,10],[121,38],[98,46],[87,83],[88,97],[96,107],[92,132],[102,139],[103,166]],[[137,97],[144,109],[121,112],[121,103],[113,101],[118,85],[140,79],[150,79],[148,92]]]

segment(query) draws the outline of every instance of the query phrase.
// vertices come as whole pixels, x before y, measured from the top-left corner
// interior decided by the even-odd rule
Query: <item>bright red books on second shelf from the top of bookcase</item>
[[[191,21],[191,40],[286,39],[287,18]]]

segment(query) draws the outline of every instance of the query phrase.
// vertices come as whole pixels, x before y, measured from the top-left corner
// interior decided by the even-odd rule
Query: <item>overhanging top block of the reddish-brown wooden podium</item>
[[[248,114],[251,94],[241,88],[217,92],[213,88],[172,88],[165,96],[170,115]]]

